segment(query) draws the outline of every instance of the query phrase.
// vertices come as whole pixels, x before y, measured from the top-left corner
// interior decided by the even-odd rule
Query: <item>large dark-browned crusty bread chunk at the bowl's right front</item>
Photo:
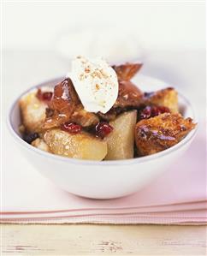
[[[196,124],[192,118],[164,113],[139,121],[135,127],[135,142],[139,156],[161,152],[177,144]]]

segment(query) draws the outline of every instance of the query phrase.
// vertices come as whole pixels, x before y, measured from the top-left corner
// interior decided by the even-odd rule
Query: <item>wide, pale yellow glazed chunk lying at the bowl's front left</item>
[[[91,134],[80,132],[69,134],[61,129],[45,132],[44,141],[50,151],[68,158],[102,160],[107,154],[107,143]]]

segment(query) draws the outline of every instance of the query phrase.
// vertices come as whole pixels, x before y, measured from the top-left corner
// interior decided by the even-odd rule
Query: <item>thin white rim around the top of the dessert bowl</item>
[[[157,81],[163,82],[163,80],[158,80],[157,78],[153,78],[153,77],[148,76],[148,75],[143,75],[143,76],[151,78],[153,80],[156,79]],[[46,84],[49,84],[49,83],[55,84],[58,80],[62,80],[62,79],[64,79],[64,76],[59,76],[59,77],[54,78],[54,79],[45,80],[44,82],[39,83],[36,86],[32,86],[29,89],[27,89],[25,92],[22,92],[21,95],[19,97],[15,98],[15,101],[12,104],[10,104],[9,113],[7,115],[7,126],[9,128],[10,134],[12,134],[13,137],[15,138],[15,140],[18,140],[20,142],[21,146],[26,148],[27,151],[32,150],[33,152],[37,153],[38,155],[41,155],[42,157],[52,158],[54,160],[65,162],[65,163],[68,163],[68,164],[97,165],[97,166],[98,165],[119,166],[119,165],[128,165],[128,164],[141,164],[141,163],[144,163],[144,162],[151,162],[151,161],[153,161],[154,159],[157,159],[157,158],[163,158],[163,157],[169,155],[171,152],[177,151],[182,146],[185,146],[188,142],[190,142],[194,138],[195,134],[197,133],[198,117],[195,115],[195,110],[192,107],[192,104],[190,103],[190,101],[185,96],[183,96],[180,92],[178,92],[179,97],[184,100],[184,102],[186,103],[187,108],[191,109],[192,119],[193,119],[194,122],[197,123],[197,125],[189,134],[186,135],[186,137],[183,140],[181,140],[176,145],[171,146],[171,147],[169,147],[168,149],[166,149],[162,152],[157,152],[155,154],[140,157],[140,158],[130,158],[130,159],[123,159],[123,160],[104,160],[104,161],[85,160],[85,159],[77,159],[77,158],[66,158],[66,157],[56,155],[56,154],[52,154],[50,152],[44,152],[44,151],[28,144],[25,140],[22,140],[22,138],[19,136],[19,134],[17,134],[15,132],[15,128],[12,124],[11,116],[12,116],[13,110],[15,109],[15,105],[19,103],[19,100],[22,96],[26,95],[28,92],[32,92],[33,90],[37,89],[38,87],[46,86]]]

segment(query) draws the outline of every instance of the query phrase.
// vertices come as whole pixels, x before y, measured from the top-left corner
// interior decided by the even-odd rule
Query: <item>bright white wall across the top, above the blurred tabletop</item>
[[[117,27],[131,30],[145,47],[204,48],[204,3],[13,3],[3,4],[3,45],[54,50],[62,32]]]

